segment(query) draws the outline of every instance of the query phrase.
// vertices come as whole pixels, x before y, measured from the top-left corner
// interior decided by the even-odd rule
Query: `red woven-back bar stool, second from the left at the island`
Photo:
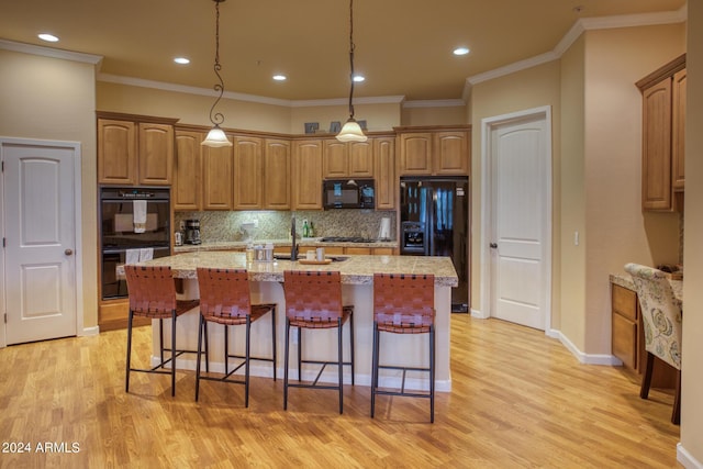
[[[198,287],[200,289],[200,326],[198,327],[198,365],[196,366],[196,401],[200,391],[200,380],[222,381],[244,384],[244,405],[249,406],[249,361],[270,361],[274,366],[276,380],[276,304],[252,304],[249,279],[246,269],[211,269],[198,268]],[[250,331],[252,323],[271,313],[271,357],[252,357]],[[224,376],[210,377],[200,373],[200,354],[203,335],[205,344],[208,323],[224,325]],[[230,326],[246,326],[246,345],[244,355],[230,354]],[[207,354],[207,351],[205,351]],[[232,371],[228,370],[230,358],[243,361]],[[244,366],[244,380],[230,377]]]

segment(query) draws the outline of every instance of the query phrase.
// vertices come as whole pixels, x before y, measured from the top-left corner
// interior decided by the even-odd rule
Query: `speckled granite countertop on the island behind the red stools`
[[[357,244],[357,243],[355,243]],[[196,279],[197,267],[246,268],[253,281],[283,281],[284,270],[338,270],[342,283],[372,284],[373,273],[434,273],[438,287],[457,287],[458,277],[449,257],[435,256],[367,256],[345,255],[346,260],[326,265],[308,265],[300,261],[277,259],[248,261],[245,253],[199,250],[140,263],[148,266],[170,266],[174,277]],[[118,267],[124,275],[124,267]]]

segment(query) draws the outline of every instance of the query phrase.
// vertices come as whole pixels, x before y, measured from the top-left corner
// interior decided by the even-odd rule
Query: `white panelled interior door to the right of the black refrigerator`
[[[548,330],[551,149],[549,112],[489,124],[488,256],[490,315]]]

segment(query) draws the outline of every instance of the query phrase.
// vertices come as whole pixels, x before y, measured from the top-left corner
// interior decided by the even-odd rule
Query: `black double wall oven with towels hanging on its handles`
[[[101,298],[127,297],[116,267],[170,255],[170,189],[100,188]]]

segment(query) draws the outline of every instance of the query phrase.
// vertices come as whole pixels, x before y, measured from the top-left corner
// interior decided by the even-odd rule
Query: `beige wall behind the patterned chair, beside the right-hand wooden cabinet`
[[[679,258],[679,215],[641,213],[641,94],[635,82],[685,52],[683,24],[585,33],[585,343],[611,351],[609,275]]]

